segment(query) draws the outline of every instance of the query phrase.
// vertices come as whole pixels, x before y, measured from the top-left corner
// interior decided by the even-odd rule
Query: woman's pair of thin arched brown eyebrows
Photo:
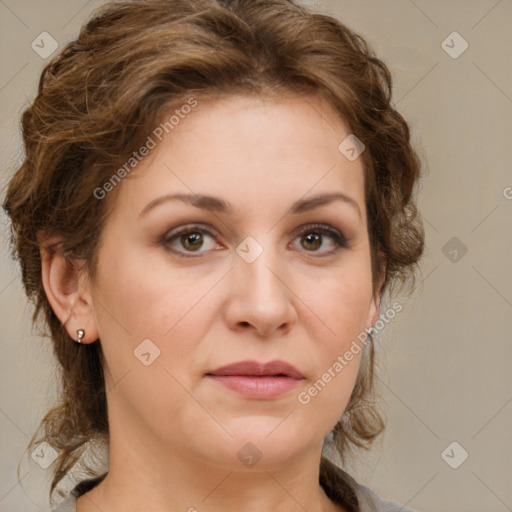
[[[215,213],[232,214],[234,211],[233,205],[224,199],[218,197],[201,195],[201,194],[167,194],[165,196],[157,197],[149,202],[141,211],[140,216],[146,215],[150,210],[157,206],[169,201],[181,201],[190,204],[202,210],[209,210]],[[362,219],[361,209],[355,199],[349,197],[341,192],[333,192],[329,194],[319,194],[308,199],[299,199],[292,204],[289,212],[292,214],[299,214],[308,212],[320,206],[325,206],[334,201],[342,201],[345,204],[352,206],[359,217]]]

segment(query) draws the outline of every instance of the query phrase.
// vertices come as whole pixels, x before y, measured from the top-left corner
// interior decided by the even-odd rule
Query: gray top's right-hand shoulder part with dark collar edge
[[[383,500],[326,457],[321,460],[320,483],[331,499],[350,512],[415,512],[393,501]]]

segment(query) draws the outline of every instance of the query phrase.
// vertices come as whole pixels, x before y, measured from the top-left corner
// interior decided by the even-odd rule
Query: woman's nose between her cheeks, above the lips
[[[295,294],[280,260],[270,249],[264,249],[252,263],[235,255],[225,308],[231,329],[272,337],[287,333],[297,321]]]

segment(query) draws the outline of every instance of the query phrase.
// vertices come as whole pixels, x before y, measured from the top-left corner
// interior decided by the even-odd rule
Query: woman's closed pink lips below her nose
[[[297,368],[280,360],[239,361],[208,372],[206,376],[243,396],[259,399],[282,395],[304,379]]]

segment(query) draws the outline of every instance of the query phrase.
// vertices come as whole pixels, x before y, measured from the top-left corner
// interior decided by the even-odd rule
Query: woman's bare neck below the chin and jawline
[[[280,464],[211,464],[176,450],[149,456],[147,444],[114,436],[109,473],[77,500],[77,512],[342,512],[319,484],[321,447]],[[133,438],[132,438],[133,439]],[[127,438],[124,438],[128,441]]]

